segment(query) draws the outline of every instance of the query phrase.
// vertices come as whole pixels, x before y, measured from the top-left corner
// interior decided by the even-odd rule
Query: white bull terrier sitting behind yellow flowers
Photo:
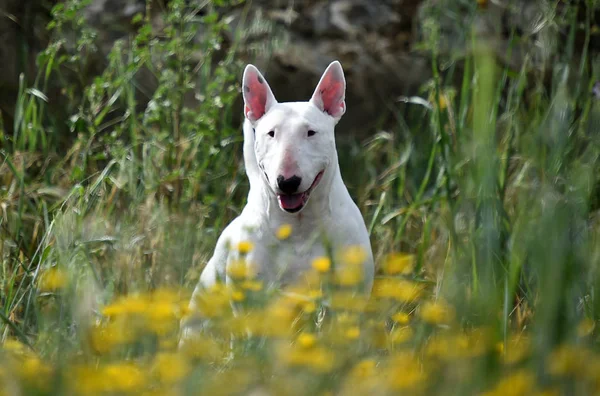
[[[248,202],[217,241],[194,294],[218,279],[230,281],[232,262],[239,263],[240,242],[255,276],[271,285],[298,280],[313,259],[360,246],[365,252],[363,281],[370,293],[373,255],[365,222],[342,181],[334,127],[346,111],[346,81],[339,62],[329,65],[308,102],[278,103],[253,65],[242,80],[244,161],[250,180]],[[291,226],[291,235],[277,230]],[[193,306],[193,302],[192,302]]]

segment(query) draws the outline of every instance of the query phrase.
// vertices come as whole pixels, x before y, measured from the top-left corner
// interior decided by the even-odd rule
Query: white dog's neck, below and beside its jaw
[[[269,225],[276,229],[282,224],[294,228],[320,228],[336,209],[336,202],[344,197],[333,196],[333,192],[343,193],[347,189],[342,181],[337,156],[325,170],[318,188],[311,194],[310,200],[299,213],[284,212],[277,202],[277,196],[264,180],[254,153],[254,130],[248,120],[244,122],[244,163],[250,181],[247,208],[265,216]]]

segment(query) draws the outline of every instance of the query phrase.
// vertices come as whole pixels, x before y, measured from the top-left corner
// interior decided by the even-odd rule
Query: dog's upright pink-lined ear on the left
[[[267,80],[254,65],[246,66],[242,77],[244,115],[252,123],[258,121],[269,108],[277,103]]]

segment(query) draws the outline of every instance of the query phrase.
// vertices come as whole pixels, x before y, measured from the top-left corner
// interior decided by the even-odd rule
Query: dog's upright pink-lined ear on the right
[[[310,99],[321,111],[339,120],[346,112],[346,79],[338,61],[329,64]]]

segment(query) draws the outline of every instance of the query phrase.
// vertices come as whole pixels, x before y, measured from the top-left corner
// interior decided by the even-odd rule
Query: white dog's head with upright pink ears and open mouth
[[[308,102],[277,103],[253,65],[242,80],[244,114],[254,130],[254,154],[279,207],[301,211],[330,165],[337,166],[334,127],[346,111],[339,62],[323,73]]]

